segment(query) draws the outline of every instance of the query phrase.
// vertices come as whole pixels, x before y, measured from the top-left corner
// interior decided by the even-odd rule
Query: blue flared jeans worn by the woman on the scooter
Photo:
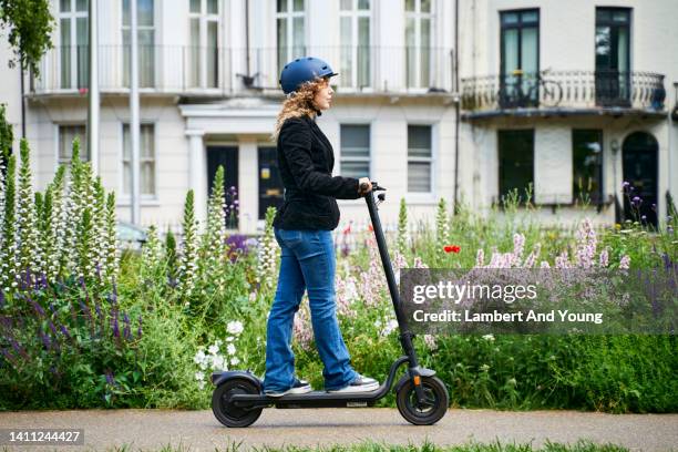
[[[291,350],[295,314],[308,290],[316,348],[325,364],[325,389],[340,389],[357,377],[337,321],[335,246],[329,230],[275,229],[282,249],[276,298],[266,328],[265,390],[287,390],[295,383]]]

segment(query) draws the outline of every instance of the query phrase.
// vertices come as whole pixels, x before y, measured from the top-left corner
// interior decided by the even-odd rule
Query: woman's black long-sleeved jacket
[[[332,177],[335,153],[318,124],[307,115],[291,117],[278,135],[278,168],[285,202],[274,226],[281,229],[326,229],[339,224],[339,199],[357,199],[358,179]]]

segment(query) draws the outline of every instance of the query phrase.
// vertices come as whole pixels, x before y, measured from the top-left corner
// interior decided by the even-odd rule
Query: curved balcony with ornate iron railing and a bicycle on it
[[[514,71],[462,79],[462,117],[666,115],[664,75],[618,71]]]

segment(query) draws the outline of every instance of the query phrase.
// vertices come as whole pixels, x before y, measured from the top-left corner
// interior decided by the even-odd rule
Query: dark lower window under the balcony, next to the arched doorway
[[[572,131],[573,194],[575,202],[603,202],[603,131]]]

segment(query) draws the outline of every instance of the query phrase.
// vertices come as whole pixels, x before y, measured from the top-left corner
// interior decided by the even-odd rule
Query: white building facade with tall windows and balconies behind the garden
[[[73,136],[84,142],[86,133],[88,1],[51,4],[54,49],[40,78],[25,75],[24,125],[39,189],[69,161]],[[130,6],[97,6],[96,171],[127,219]],[[624,214],[624,179],[639,185],[660,214],[665,194],[678,193],[674,0],[600,7],[587,0],[137,0],[137,8],[143,225],[178,224],[188,189],[204,218],[214,173],[224,165],[227,188],[237,193],[228,199],[238,205],[229,226],[244,234],[260,228],[266,207],[282,199],[269,140],[282,101],[278,74],[302,55],[322,58],[340,73],[333,106],[318,123],[335,147],[336,174],[370,176],[389,189],[387,224],[397,220],[401,197],[410,218],[432,219],[441,197],[484,209],[532,184],[545,220],[582,214],[573,205],[586,198],[586,215],[612,223],[615,195],[617,216],[619,208]],[[0,58],[7,61],[9,50]],[[0,102],[20,135],[19,72],[6,65],[0,72]],[[342,224],[368,222],[361,201],[341,202],[341,212]]]

